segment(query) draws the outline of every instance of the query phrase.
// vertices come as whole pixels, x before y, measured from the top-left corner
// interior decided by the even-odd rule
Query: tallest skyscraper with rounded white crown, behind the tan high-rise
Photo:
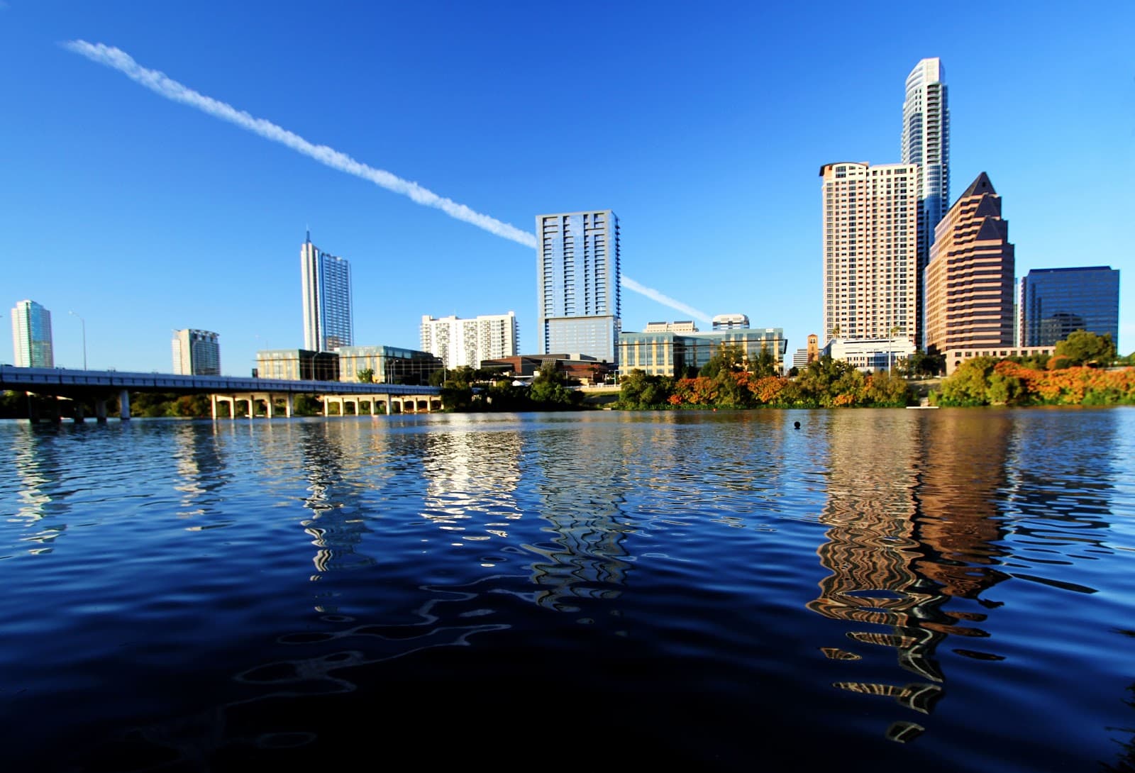
[[[918,212],[918,283],[924,282],[934,244],[934,227],[950,209],[950,107],[945,69],[938,57],[923,59],[907,76],[902,102],[900,161],[922,167],[922,199]],[[918,296],[919,328],[923,324],[923,293]],[[922,346],[922,338],[915,339]]]

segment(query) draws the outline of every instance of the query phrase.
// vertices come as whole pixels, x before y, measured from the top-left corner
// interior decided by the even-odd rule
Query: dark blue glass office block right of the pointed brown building
[[[1119,351],[1119,269],[1033,269],[1020,279],[1019,345],[1052,346],[1069,333],[1111,334]]]

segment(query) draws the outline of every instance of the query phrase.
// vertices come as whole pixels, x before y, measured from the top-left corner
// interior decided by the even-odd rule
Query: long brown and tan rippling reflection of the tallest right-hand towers
[[[984,613],[944,605],[951,597],[991,605],[980,595],[1007,577],[993,565],[1003,536],[997,490],[1006,478],[1008,422],[984,414],[938,419],[905,413],[833,419],[830,498],[822,516],[830,529],[817,551],[832,573],[808,604],[852,623],[851,641],[892,648],[898,664],[918,680],[840,681],[835,687],[888,696],[923,714],[943,694],[938,646],[949,635],[986,636],[973,625]],[[823,650],[833,659],[861,657],[851,648]],[[888,737],[907,741],[922,731],[900,720]]]

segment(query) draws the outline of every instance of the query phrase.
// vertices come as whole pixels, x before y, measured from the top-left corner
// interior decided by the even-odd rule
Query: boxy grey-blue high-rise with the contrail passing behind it
[[[615,213],[537,216],[536,277],[539,353],[615,362],[622,326]]]

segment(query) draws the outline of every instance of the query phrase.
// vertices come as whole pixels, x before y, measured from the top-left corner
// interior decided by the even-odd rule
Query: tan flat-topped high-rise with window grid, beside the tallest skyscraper
[[[823,178],[824,341],[918,341],[915,163],[827,163]]]

